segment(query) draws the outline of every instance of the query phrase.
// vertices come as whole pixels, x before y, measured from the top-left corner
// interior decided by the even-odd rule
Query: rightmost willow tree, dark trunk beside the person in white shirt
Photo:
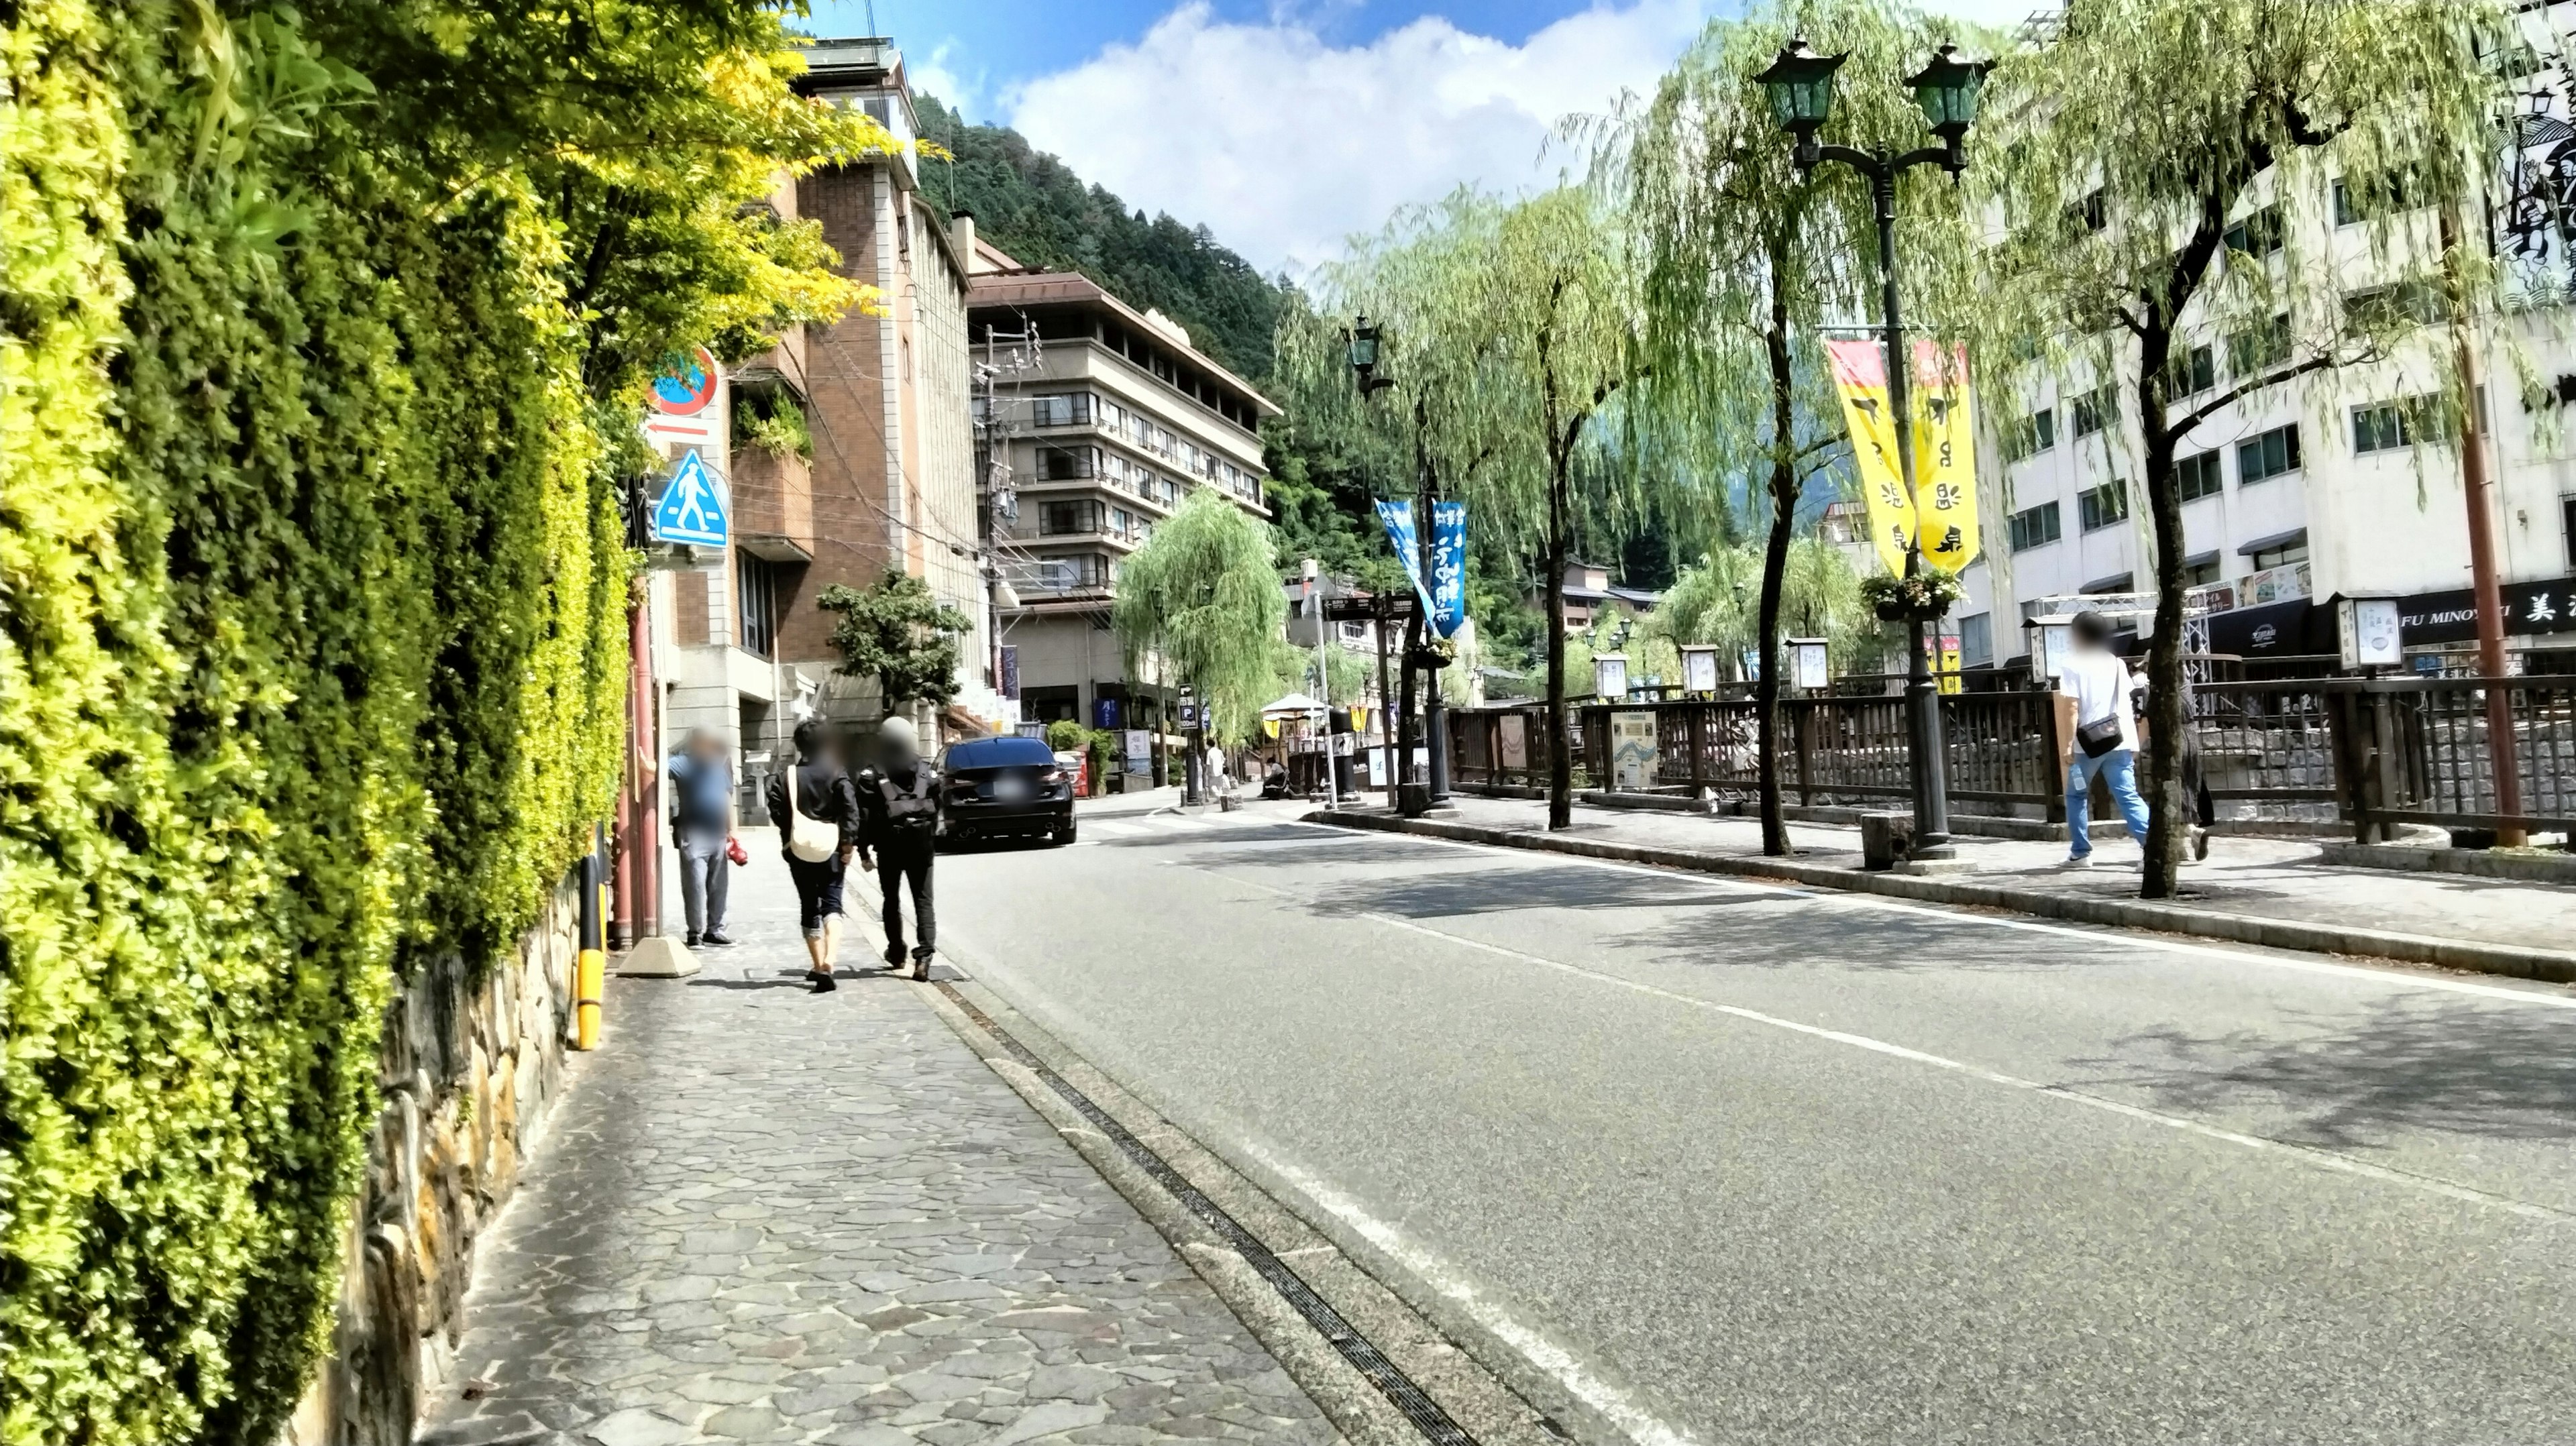
[[[1989,77],[1968,183],[2002,232],[1960,237],[1950,320],[1989,376],[2027,358],[2125,394],[2156,567],[2146,897],[2174,892],[2187,838],[2177,448],[2259,392],[2406,353],[2445,260],[2452,296],[2494,286],[2483,247],[2445,258],[2437,211],[2496,144],[2478,39],[2506,26],[2463,0],[2071,0]],[[2331,178],[2367,255],[2321,219]],[[2226,353],[2208,392],[2182,381],[2200,338]]]

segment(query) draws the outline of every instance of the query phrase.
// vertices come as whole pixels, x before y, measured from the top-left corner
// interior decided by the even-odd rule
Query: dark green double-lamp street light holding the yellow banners
[[[1798,142],[1793,152],[1798,170],[1839,160],[1870,178],[1870,198],[1878,204],[1878,307],[1888,351],[1888,410],[1896,420],[1896,469],[1911,500],[1914,410],[1906,402],[1906,389],[1914,369],[1906,366],[1906,335],[1896,314],[1896,178],[1917,165],[1937,165],[1958,180],[1958,173],[1968,168],[1963,142],[1968,126],[1976,121],[1976,93],[1991,62],[1963,59],[1958,46],[1945,44],[1932,54],[1932,64],[1909,75],[1906,85],[1914,88],[1914,103],[1922,106],[1940,144],[1893,155],[1816,144],[1816,131],[1834,111],[1834,72],[1842,70],[1842,62],[1844,57],[1839,54],[1816,54],[1798,36],[1754,80],[1770,90],[1772,119]],[[1914,541],[1906,546],[1906,577],[1919,575],[1922,567],[1922,523],[1917,521]],[[1958,848],[1950,845],[1950,784],[1942,771],[1940,688],[1932,680],[1932,660],[1924,655],[1927,621],[1932,619],[1922,616],[1922,611],[1906,619],[1906,647],[1911,652],[1911,662],[1906,665],[1906,719],[1911,724],[1914,753],[1914,858],[1955,858]],[[1767,665],[1770,660],[1765,660]]]

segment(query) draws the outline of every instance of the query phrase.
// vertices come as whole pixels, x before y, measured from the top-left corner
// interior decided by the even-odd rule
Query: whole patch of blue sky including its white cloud
[[[2048,0],[1935,0],[1989,23]],[[1458,186],[1582,160],[1566,116],[1651,93],[1739,0],[876,0],[914,88],[1018,126],[1128,206],[1303,276]],[[817,0],[866,34],[866,0]]]

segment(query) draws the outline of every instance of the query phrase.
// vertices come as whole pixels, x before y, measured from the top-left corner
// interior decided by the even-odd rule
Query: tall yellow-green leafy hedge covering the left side
[[[0,0],[0,1441],[265,1441],[376,1036],[605,817],[559,232],[268,3]]]

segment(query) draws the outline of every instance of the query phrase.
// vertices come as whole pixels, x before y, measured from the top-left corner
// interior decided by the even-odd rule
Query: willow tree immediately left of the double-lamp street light
[[[1850,52],[1826,144],[1917,144],[1922,113],[1901,77],[1929,52],[1922,21],[1862,0],[1772,5],[1718,21],[1662,80],[1625,134],[1623,191],[1646,247],[1643,425],[1695,446],[1718,472],[1765,477],[1754,647],[1780,655],[1780,598],[1798,497],[1844,441],[1816,348],[1829,320],[1868,312],[1878,240],[1868,186],[1847,168],[1801,170],[1754,75],[1795,26]],[[1618,155],[1618,152],[1613,152]],[[1911,173],[1906,217],[1953,209],[1947,180]],[[1780,670],[1754,686],[1762,851],[1788,853],[1780,809]]]

